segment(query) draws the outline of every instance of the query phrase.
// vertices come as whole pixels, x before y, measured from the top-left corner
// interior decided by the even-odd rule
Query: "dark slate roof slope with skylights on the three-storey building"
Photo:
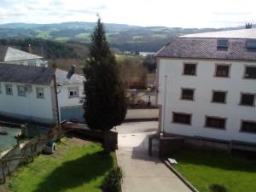
[[[191,37],[192,36],[193,35],[191,35]],[[247,49],[247,38],[227,39],[229,40],[228,49],[221,50],[217,49],[218,38],[189,38],[189,36],[179,37],[173,39],[171,43],[166,44],[166,47],[160,49],[156,56],[189,59],[256,61],[256,51]]]

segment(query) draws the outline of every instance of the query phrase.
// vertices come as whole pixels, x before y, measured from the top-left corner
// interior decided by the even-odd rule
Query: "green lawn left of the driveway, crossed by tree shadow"
[[[100,192],[105,174],[116,166],[115,154],[101,153],[100,143],[65,139],[53,155],[39,155],[10,178],[17,192]]]

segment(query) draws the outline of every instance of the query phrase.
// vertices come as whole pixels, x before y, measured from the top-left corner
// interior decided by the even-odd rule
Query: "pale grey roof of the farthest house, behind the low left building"
[[[33,55],[23,50],[8,47],[3,61],[7,62],[7,61],[22,61],[22,60],[33,60],[33,59],[43,59],[43,57],[38,55]]]

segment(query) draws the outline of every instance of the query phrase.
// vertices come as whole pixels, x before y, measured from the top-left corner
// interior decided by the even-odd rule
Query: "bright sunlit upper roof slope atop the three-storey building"
[[[179,36],[179,38],[256,38],[256,28],[222,32],[201,32]]]

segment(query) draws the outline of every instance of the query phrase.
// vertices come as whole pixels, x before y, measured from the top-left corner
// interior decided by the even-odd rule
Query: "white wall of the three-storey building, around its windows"
[[[197,75],[183,73],[183,61],[197,62]],[[230,78],[214,77],[215,64],[231,64]],[[246,61],[202,61],[160,58],[158,104],[162,105],[161,129],[184,136],[212,137],[256,143],[256,134],[240,132],[241,119],[256,120],[256,108],[240,106],[241,92],[256,93],[256,80],[243,79]],[[164,107],[166,77],[166,106]],[[195,88],[195,101],[180,100],[181,88]],[[225,90],[227,103],[212,103],[212,90]],[[172,123],[172,112],[192,113],[192,125]],[[165,118],[164,118],[165,114]],[[205,128],[205,115],[227,118],[226,130]],[[165,119],[165,122],[163,122]]]

